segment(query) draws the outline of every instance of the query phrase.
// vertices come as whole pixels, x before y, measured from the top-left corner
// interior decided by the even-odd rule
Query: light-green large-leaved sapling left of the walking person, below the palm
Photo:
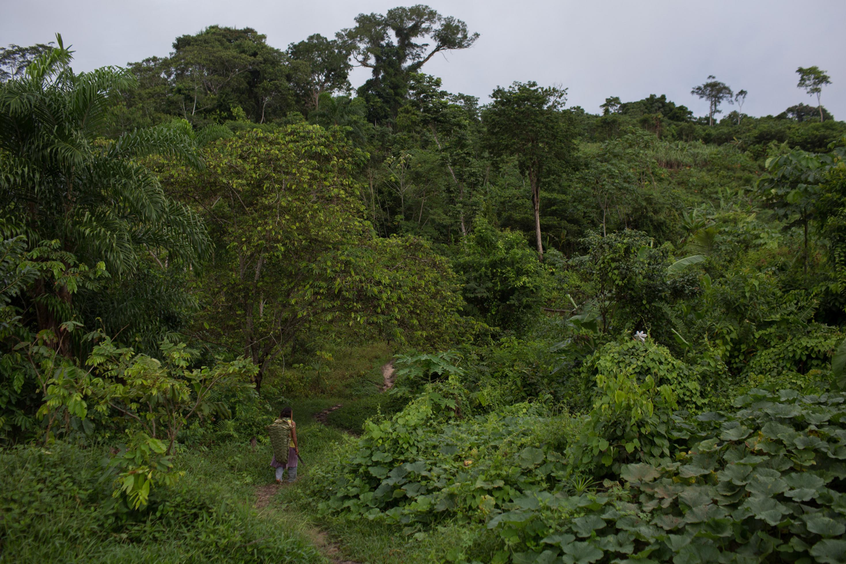
[[[192,418],[228,416],[228,406],[217,401],[217,394],[249,386],[247,379],[255,366],[239,359],[188,370],[195,351],[184,343],[163,342],[162,362],[131,348],[118,348],[102,334],[86,338],[100,341],[86,362],[91,369],[65,366],[52,371],[38,414],[49,419],[49,443],[59,414],[64,414],[67,433],[71,416],[89,431],[90,415],[107,423],[113,410],[117,412],[112,423],[127,427],[129,441],[110,463],[116,474],[114,495],[123,493],[137,509],[147,504],[151,488],[172,485],[176,479],[169,455],[179,431]]]

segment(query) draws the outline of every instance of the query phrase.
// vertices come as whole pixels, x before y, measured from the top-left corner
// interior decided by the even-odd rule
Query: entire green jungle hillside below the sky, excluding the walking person
[[[0,51],[0,561],[846,561],[825,71],[593,113],[350,25]]]

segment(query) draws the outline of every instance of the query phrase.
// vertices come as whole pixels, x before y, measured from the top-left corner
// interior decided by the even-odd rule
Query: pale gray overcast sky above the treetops
[[[165,56],[173,38],[207,25],[253,27],[274,47],[312,33],[333,36],[360,12],[384,14],[400,0],[3,0],[0,45],[31,45],[62,33],[74,69]],[[422,0],[425,2],[425,0]],[[749,91],[744,112],[782,112],[800,101],[795,70],[817,65],[832,77],[822,103],[846,119],[846,2],[843,0],[431,0],[441,14],[481,33],[475,46],[434,57],[424,70],[452,92],[484,103],[497,85],[536,80],[569,88],[569,105],[598,112],[607,96],[650,94],[706,114],[690,95],[708,74]],[[353,84],[366,79],[365,69]],[[730,111],[730,107],[724,108]]]

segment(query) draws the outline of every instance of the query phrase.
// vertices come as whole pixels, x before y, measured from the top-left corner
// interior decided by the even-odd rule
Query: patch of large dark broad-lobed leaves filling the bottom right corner
[[[624,466],[601,494],[531,492],[488,527],[514,562],[843,562],[844,401],[754,389],[679,425],[677,462]]]

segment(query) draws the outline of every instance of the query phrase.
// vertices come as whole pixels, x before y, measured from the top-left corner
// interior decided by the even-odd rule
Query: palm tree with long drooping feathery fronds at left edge
[[[211,247],[206,227],[188,206],[168,198],[138,160],[158,154],[200,167],[195,141],[168,127],[104,140],[109,103],[134,88],[135,77],[114,67],[74,74],[72,52],[56,37],[58,47],[0,84],[3,232],[24,234],[30,246],[56,241],[80,264],[102,263],[113,277],[131,275],[144,255],[199,266]],[[73,316],[73,293],[47,280],[30,288],[39,331],[53,331],[65,355],[62,323]]]

